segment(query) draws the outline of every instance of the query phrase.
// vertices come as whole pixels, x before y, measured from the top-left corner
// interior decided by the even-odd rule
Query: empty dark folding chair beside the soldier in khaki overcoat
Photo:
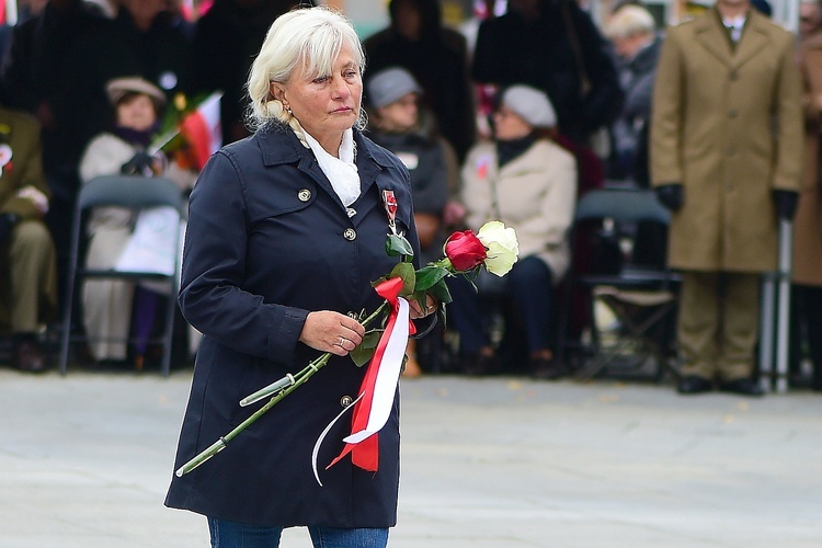
[[[606,187],[591,191],[578,202],[573,230],[591,222],[602,224],[620,244],[627,242],[632,248],[641,230],[657,227],[664,231],[670,215],[653,191]],[[572,241],[579,246],[575,238]],[[596,264],[592,272],[571,271],[567,290],[579,287],[585,293],[591,331],[590,344],[581,349],[584,357],[578,378],[590,379],[606,368],[638,372],[649,359],[655,362],[657,379],[665,370],[678,375],[672,357],[680,276],[664,266],[664,251],[659,261],[646,264],[635,260],[639,255],[636,251],[642,250],[626,253],[618,248],[621,262],[609,272],[597,273]],[[574,253],[582,252],[574,249]],[[597,321],[602,316],[597,315],[597,302],[615,319],[612,340],[606,340]]]

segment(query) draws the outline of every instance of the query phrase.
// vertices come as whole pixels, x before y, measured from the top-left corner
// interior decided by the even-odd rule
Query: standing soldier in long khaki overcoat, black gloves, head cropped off
[[[760,278],[776,267],[777,216],[796,207],[802,155],[794,36],[719,0],[672,27],[653,94],[651,179],[671,209],[669,263],[683,271],[681,393],[760,396],[752,379]]]

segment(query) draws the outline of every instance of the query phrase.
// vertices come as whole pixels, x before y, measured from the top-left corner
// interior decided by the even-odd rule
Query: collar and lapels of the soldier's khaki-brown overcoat
[[[731,69],[740,68],[770,44],[772,36],[767,19],[754,9],[747,12],[745,30],[735,49],[731,47],[728,33],[716,9],[708,10],[694,21],[694,24],[697,42]]]

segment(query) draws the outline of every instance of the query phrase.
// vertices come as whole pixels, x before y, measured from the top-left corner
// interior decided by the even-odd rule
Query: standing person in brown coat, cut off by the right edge
[[[804,107],[804,184],[794,222],[794,312],[791,330],[804,327],[813,363],[812,387],[822,390],[822,7],[800,5],[799,68]]]

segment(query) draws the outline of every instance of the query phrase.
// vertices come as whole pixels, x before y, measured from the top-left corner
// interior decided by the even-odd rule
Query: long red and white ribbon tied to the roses
[[[351,407],[354,408],[351,435],[343,438],[345,447],[326,469],[331,468],[351,453],[351,459],[355,466],[365,470],[377,471],[379,466],[377,433],[385,426],[391,414],[408,336],[413,334],[413,324],[409,322],[408,301],[399,296],[401,289],[401,278],[387,279],[375,288],[377,294],[390,304],[391,311],[388,315],[386,330],[380,336],[374,351],[374,357],[368,364],[357,399],[354,400],[353,406],[349,406],[326,426],[315,444],[311,465],[315,478],[320,486],[322,486],[322,482],[317,471],[317,455],[320,445],[334,423]]]

